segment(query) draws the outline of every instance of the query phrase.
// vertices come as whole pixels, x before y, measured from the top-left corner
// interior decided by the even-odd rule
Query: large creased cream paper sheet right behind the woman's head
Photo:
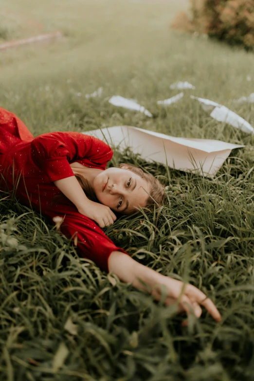
[[[130,147],[146,161],[213,177],[233,148],[244,147],[210,139],[175,138],[131,126],[115,126],[83,132],[122,151]]]

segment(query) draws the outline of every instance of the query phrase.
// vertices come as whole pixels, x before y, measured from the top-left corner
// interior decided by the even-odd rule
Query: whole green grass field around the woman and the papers
[[[181,1],[1,0],[3,37],[62,30],[61,42],[0,53],[0,103],[35,135],[119,124],[245,144],[215,179],[138,162],[166,185],[157,216],[106,230],[133,258],[189,281],[222,314],[199,321],[155,303],[81,259],[44,219],[2,194],[0,381],[254,380],[254,137],[210,118],[207,97],[254,126],[254,55],[169,29]],[[0,30],[0,31],[1,31]],[[177,80],[196,86],[169,108]],[[101,98],[85,94],[103,86]],[[80,93],[80,94],[78,94]],[[154,117],[109,105],[135,98]]]

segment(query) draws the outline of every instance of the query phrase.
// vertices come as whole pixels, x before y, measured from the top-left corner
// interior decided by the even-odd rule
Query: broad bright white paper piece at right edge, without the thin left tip
[[[254,128],[250,123],[225,106],[216,107],[210,116],[218,120],[218,122],[228,123],[233,127],[239,128],[241,131],[254,133]]]

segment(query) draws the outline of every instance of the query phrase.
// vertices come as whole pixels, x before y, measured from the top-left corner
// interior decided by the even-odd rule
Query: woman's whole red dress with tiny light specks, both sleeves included
[[[73,162],[105,170],[112,154],[107,144],[82,133],[52,132],[34,138],[15,114],[0,108],[0,173],[8,189],[16,186],[18,199],[44,216],[64,217],[61,232],[77,236],[79,254],[107,271],[111,252],[126,252],[116,247],[94,221],[78,213],[71,201],[55,201],[60,191],[53,181],[73,176]]]

